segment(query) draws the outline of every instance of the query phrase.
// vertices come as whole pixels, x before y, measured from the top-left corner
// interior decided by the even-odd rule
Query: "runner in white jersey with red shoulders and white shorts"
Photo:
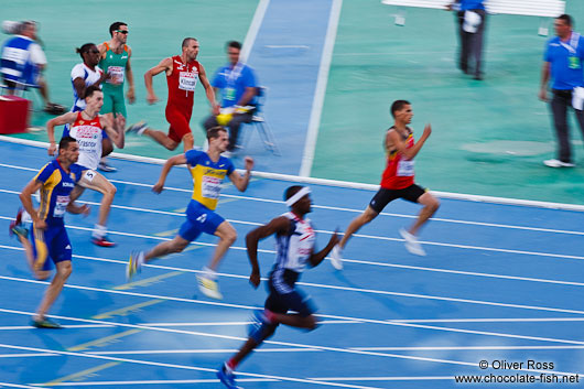
[[[98,223],[95,225],[91,234],[91,241],[97,246],[112,247],[116,244],[107,237],[106,224],[113,196],[116,195],[116,186],[99,174],[96,169],[101,159],[101,139],[104,132],[109,134],[109,138],[118,148],[123,148],[123,127],[126,119],[121,115],[118,115],[115,120],[111,120],[108,116],[99,115],[99,110],[104,105],[104,94],[95,85],[86,88],[85,102],[86,106],[82,111],[67,112],[46,123],[48,141],[51,142],[48,154],[53,155],[56,151],[55,126],[68,125],[68,134],[76,139],[79,144],[78,164],[84,170],[84,174],[79,181],[80,186],[76,187],[72,197],[76,199],[82,195],[84,188],[97,191],[104,195],[99,206]]]

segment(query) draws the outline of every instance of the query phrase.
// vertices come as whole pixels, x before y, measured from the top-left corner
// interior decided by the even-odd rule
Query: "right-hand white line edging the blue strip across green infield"
[[[321,126],[321,115],[323,114],[326,84],[328,83],[328,72],[331,71],[331,63],[333,61],[333,50],[335,48],[342,8],[343,0],[333,0],[331,14],[328,17],[328,26],[326,28],[326,35],[324,39],[323,54],[321,56],[321,65],[318,66],[314,99],[312,101],[306,142],[304,143],[304,152],[302,153],[302,163],[299,172],[299,175],[304,177],[311,175],[312,164],[314,162],[314,150],[318,138],[318,127]]]

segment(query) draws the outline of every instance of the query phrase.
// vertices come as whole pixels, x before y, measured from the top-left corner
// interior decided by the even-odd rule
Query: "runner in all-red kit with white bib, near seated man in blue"
[[[195,87],[201,80],[214,115],[219,115],[219,106],[215,102],[215,93],[209,85],[205,68],[196,61],[198,41],[194,37],[183,40],[183,53],[164,58],[156,66],[144,74],[148,90],[147,100],[154,104],[159,100],[152,87],[152,77],[165,72],[169,85],[169,101],[166,102],[166,121],[171,125],[169,134],[148,128],[145,122],[139,122],[128,128],[128,131],[139,136],[145,134],[165,147],[174,150],[183,141],[184,151],[193,149],[194,139],[188,122],[193,114],[193,96]]]

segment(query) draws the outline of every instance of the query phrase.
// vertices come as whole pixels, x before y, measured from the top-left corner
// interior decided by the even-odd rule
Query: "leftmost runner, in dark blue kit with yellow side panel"
[[[51,262],[55,263],[56,272],[53,281],[36,309],[31,324],[40,328],[60,328],[61,325],[46,317],[46,312],[53,305],[63,285],[72,272],[72,247],[65,229],[65,212],[72,214],[89,213],[87,205],[77,206],[71,199],[71,193],[80,177],[80,166],[76,165],[79,147],[75,139],[65,137],[58,143],[58,156],[44,165],[39,174],[22,190],[20,199],[24,210],[32,218],[29,230],[22,225],[22,209],[17,220],[10,225],[24,247],[26,261],[39,280],[51,277]],[[34,209],[32,195],[41,191],[41,206]]]

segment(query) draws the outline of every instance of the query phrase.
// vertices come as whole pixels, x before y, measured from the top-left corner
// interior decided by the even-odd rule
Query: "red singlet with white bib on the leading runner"
[[[410,149],[413,147],[413,133],[409,127],[407,129],[408,134],[398,134],[408,143],[407,148]],[[394,130],[394,128],[391,127],[388,132],[391,130]],[[413,185],[413,160],[407,160],[396,149],[388,150],[387,153],[387,165],[381,176],[381,187],[386,190],[403,190]]]

